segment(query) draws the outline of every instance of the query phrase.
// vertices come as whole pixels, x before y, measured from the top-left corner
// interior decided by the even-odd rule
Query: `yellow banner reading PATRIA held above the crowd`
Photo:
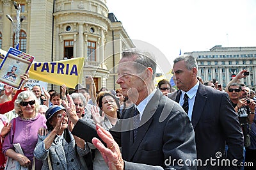
[[[0,50],[0,54],[6,55]],[[3,59],[0,56],[0,63]],[[68,88],[75,88],[83,77],[84,58],[64,59],[52,62],[34,62],[29,69],[29,77],[39,81],[56,85],[65,84]]]

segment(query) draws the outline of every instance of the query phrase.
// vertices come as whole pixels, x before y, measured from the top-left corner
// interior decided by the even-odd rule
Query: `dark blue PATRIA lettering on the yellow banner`
[[[42,63],[35,63],[34,65],[34,70],[40,70],[40,66],[42,65]],[[42,68],[41,68],[41,72],[47,72],[47,73],[54,73],[54,68],[56,68],[55,66],[57,66],[57,72],[59,74],[66,74],[66,75],[78,75],[77,72],[77,65],[72,65],[72,68],[70,69],[70,64],[67,64],[67,66],[65,66],[63,63],[43,63]],[[69,72],[70,70],[70,72]]]

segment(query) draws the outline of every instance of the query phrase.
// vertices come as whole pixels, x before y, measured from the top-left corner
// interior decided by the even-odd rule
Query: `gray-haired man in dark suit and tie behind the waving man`
[[[195,130],[197,158],[203,164],[207,159],[216,159],[215,165],[208,161],[206,166],[199,164],[198,169],[241,168],[243,133],[228,94],[197,81],[197,63],[193,56],[175,58],[173,72],[179,90],[172,93],[170,98],[183,106],[186,102],[184,96],[188,95],[188,116]],[[227,155],[225,143],[228,145]],[[225,166],[225,161],[221,163],[221,160],[227,158],[230,166]],[[217,160],[220,160],[220,164]]]

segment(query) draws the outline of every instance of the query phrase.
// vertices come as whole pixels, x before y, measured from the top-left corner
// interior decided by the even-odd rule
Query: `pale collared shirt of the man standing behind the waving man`
[[[181,95],[180,95],[180,101],[179,104],[182,106],[184,104],[184,95],[185,93],[187,93],[188,95],[188,116],[189,116],[189,120],[191,121],[192,119],[192,112],[193,112],[193,107],[194,107],[194,103],[195,103],[195,98],[196,98],[196,93],[199,87],[199,81],[196,82],[195,86],[191,89],[189,89],[189,91],[185,92],[185,91],[181,91]]]

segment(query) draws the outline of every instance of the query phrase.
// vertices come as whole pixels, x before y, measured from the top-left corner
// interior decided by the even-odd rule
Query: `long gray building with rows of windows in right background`
[[[224,88],[230,82],[232,75],[247,69],[250,75],[241,79],[250,88],[256,84],[256,47],[221,47],[216,45],[209,51],[186,52],[198,63],[198,75],[204,81],[216,79]]]

